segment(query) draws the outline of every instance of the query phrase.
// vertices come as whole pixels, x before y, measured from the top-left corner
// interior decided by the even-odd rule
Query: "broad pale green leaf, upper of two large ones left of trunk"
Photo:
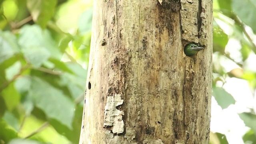
[[[50,52],[52,58],[60,60],[62,57],[62,54],[50,32],[47,29],[42,30],[36,24],[32,26],[23,26],[20,30],[20,37],[18,42],[22,46],[22,49],[33,47],[44,48]]]

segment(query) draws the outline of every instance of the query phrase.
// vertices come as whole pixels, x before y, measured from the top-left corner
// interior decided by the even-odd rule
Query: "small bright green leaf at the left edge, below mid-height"
[[[12,111],[20,102],[20,94],[17,92],[14,87],[14,83],[10,83],[6,88],[1,92],[1,95],[4,98],[6,107],[9,111]]]

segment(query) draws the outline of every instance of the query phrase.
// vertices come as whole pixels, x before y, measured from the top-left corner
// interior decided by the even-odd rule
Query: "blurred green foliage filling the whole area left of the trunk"
[[[0,144],[78,144],[92,2],[0,6]]]

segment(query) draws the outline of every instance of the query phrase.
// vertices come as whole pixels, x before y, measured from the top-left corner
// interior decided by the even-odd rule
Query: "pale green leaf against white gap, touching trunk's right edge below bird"
[[[235,104],[236,102],[233,96],[231,96],[231,94],[226,92],[226,90],[223,88],[212,88],[212,95],[222,109],[227,108],[230,104]]]

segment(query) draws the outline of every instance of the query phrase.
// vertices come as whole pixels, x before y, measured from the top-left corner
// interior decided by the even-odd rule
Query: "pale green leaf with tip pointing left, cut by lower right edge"
[[[256,132],[256,115],[248,112],[243,112],[238,114],[240,118],[244,121],[245,126],[252,128]]]

